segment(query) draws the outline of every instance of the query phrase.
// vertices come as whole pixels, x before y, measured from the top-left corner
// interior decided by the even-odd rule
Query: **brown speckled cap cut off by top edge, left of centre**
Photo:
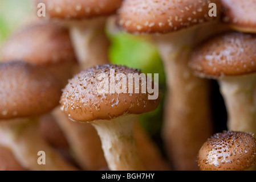
[[[109,15],[116,12],[122,0],[36,0],[46,5],[46,14],[50,18],[84,19]]]

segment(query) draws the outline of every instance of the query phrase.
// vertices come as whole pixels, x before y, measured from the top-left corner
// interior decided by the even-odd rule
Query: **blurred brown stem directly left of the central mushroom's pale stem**
[[[87,171],[95,171],[107,167],[101,141],[94,126],[90,123],[74,122],[56,107],[52,115],[58,122],[68,139],[76,162]]]

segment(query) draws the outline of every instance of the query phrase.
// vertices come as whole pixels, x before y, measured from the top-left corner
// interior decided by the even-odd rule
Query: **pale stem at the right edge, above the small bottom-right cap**
[[[256,134],[256,107],[254,104],[256,74],[225,76],[220,78],[219,82],[229,114],[228,129]]]

